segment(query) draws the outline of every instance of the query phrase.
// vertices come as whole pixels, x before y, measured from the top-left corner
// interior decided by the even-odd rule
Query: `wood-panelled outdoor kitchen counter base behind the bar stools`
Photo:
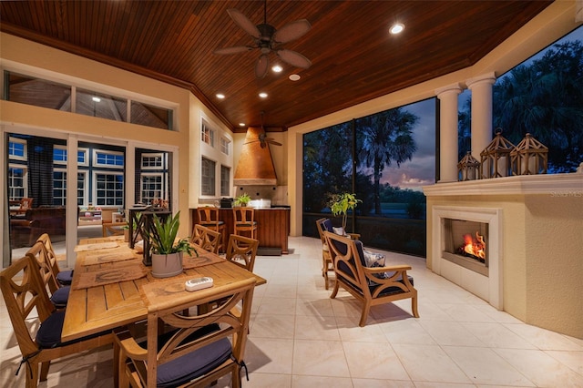
[[[199,222],[196,209],[190,209],[194,223]],[[223,248],[227,248],[229,236],[233,232],[233,210],[219,209],[220,220],[225,222],[223,233]],[[290,235],[290,208],[273,207],[267,209],[255,209],[255,221],[257,221],[257,240],[261,250],[281,250],[282,254],[288,251],[288,236]],[[194,225],[193,225],[194,228]]]

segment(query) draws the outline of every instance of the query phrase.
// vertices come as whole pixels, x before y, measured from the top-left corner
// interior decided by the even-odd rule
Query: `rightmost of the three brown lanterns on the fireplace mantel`
[[[547,174],[548,148],[529,133],[510,152],[513,175]]]

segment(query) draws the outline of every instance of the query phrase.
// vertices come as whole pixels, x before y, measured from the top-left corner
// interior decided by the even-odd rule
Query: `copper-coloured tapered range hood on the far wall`
[[[233,177],[235,186],[277,185],[270,146],[264,141],[264,137],[263,128],[247,128],[247,135]]]

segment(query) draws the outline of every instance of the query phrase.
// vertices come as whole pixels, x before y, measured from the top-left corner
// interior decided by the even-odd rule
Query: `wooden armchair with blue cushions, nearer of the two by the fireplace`
[[[375,305],[411,298],[411,310],[415,318],[417,290],[413,278],[407,275],[408,265],[366,267],[363,243],[332,233],[324,232],[336,275],[331,298],[335,298],[340,286],[363,303],[360,326],[366,325],[370,308]]]

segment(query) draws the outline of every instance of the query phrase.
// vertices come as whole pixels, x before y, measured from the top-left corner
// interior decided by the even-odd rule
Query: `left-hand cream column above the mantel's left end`
[[[439,98],[439,181],[457,181],[457,96],[459,84],[435,90]]]

